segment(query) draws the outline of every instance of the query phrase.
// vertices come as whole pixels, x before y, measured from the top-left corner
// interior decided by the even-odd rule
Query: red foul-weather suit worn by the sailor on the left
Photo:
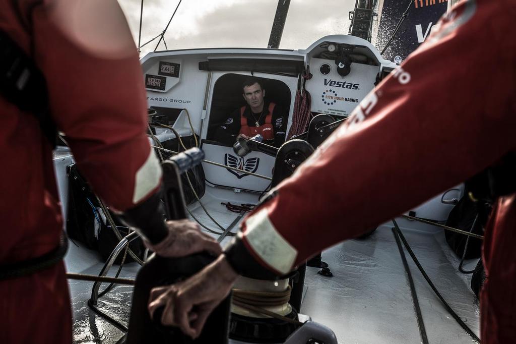
[[[61,5],[69,6],[63,20]],[[96,22],[91,17],[80,22],[92,13]],[[59,26],[68,19],[68,24],[80,24],[76,30]],[[161,170],[146,136],[147,100],[138,55],[117,2],[1,1],[0,29],[45,75],[52,117],[95,192],[122,211],[153,194]],[[110,36],[117,39],[90,44]],[[2,96],[0,159],[4,265],[50,252],[58,246],[63,224],[51,147],[37,119]],[[64,264],[0,280],[0,319],[2,343],[70,343]]]

